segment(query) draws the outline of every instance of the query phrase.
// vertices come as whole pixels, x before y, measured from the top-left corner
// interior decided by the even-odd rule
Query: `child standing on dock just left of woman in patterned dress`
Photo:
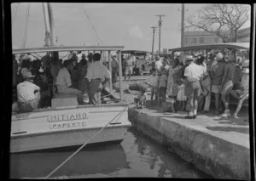
[[[162,67],[160,69],[160,78],[159,78],[159,105],[162,102],[166,102],[166,87],[167,87],[167,76],[166,76],[166,68]]]

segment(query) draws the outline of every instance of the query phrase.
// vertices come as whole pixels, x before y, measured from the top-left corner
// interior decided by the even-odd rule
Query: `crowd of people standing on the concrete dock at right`
[[[249,60],[241,56],[236,59],[234,52],[212,52],[209,59],[203,54],[185,56],[176,55],[173,60],[158,57],[154,62],[147,83],[151,88],[151,101],[155,97],[158,105],[172,102],[171,112],[186,110],[186,118],[195,118],[197,110],[207,114],[210,110],[211,94],[214,93],[216,115],[230,115],[230,94],[239,99],[237,114],[241,104],[248,99]],[[155,95],[155,96],[154,96]],[[145,90],[136,98],[136,102],[145,100]],[[141,101],[141,102],[142,102]]]

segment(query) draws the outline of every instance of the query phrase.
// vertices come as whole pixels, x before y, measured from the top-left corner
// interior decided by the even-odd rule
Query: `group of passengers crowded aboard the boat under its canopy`
[[[87,93],[90,104],[101,104],[102,86],[111,76],[101,63],[101,54],[89,53],[86,59],[81,51],[70,52],[66,60],[53,59],[50,53],[42,59],[21,54],[16,60],[14,55],[13,69],[15,112],[50,106],[55,93],[75,94],[79,105],[85,104],[83,95]]]

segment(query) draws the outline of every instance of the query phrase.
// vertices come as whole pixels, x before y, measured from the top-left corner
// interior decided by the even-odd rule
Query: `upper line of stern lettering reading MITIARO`
[[[63,115],[54,115],[48,116],[48,122],[61,122],[61,121],[73,121],[73,120],[81,120],[87,119],[87,113],[74,113],[74,114],[63,114]]]

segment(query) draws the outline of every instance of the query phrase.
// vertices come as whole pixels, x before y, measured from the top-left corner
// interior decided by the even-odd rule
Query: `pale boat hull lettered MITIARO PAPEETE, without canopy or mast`
[[[79,107],[12,116],[10,152],[81,145],[106,126],[125,106]],[[89,144],[121,142],[131,123],[127,110]]]

